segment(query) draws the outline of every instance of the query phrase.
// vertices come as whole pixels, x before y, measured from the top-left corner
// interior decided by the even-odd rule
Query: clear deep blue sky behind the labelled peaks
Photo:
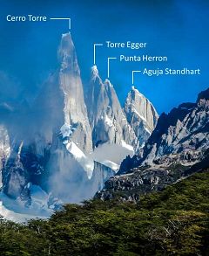
[[[168,112],[181,102],[195,101],[197,94],[209,85],[207,0],[0,0],[0,3],[0,74],[12,80],[9,91],[16,84],[16,91],[28,99],[38,93],[48,74],[57,68],[57,46],[62,33],[68,31],[67,24],[63,21],[9,23],[5,18],[7,14],[71,17],[71,34],[84,84],[90,78],[93,43],[104,44],[106,40],[147,42],[144,51],[99,48],[97,65],[103,80],[107,76],[107,57],[119,54],[167,56],[168,62],[160,65],[112,62],[111,83],[122,104],[131,88],[131,70],[143,67],[201,69],[199,76],[136,75],[136,87],[152,101],[158,113]]]

